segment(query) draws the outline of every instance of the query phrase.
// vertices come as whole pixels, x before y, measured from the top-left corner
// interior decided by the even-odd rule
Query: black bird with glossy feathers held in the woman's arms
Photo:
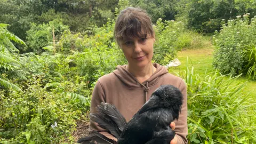
[[[113,134],[117,142],[94,132],[89,137],[79,139],[78,143],[169,144],[175,136],[170,123],[179,118],[182,101],[182,93],[177,87],[162,85],[127,124],[115,106],[101,103],[97,107],[98,113],[90,114],[91,121]]]

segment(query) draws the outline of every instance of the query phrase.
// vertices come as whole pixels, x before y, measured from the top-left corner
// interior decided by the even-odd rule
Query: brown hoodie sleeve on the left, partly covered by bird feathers
[[[104,93],[103,87],[100,81],[98,81],[95,84],[92,92],[90,113],[96,113],[96,107],[100,105],[101,102],[106,102],[106,100],[105,100],[105,93]],[[91,133],[92,131],[97,131],[110,139],[115,138],[113,135],[108,133],[106,129],[103,129],[102,127],[99,126],[98,123],[92,122],[91,120],[90,120],[89,129],[90,129],[89,133]]]

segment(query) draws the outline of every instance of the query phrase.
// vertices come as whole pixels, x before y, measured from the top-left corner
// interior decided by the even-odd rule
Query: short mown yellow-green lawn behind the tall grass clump
[[[187,68],[187,58],[188,58],[188,67],[189,70],[192,66],[194,66],[195,74],[200,76],[204,76],[206,73],[210,73],[214,69],[212,68],[212,53],[213,48],[203,48],[203,49],[191,49],[185,50],[178,53],[177,58],[181,62],[181,66],[177,67],[176,69],[170,68],[170,73],[182,73],[182,71],[186,70]],[[247,81],[245,77],[239,77],[234,79],[235,83],[244,83]],[[251,93],[252,97],[256,99],[256,82],[255,81],[248,81],[245,85],[243,91],[247,93]]]

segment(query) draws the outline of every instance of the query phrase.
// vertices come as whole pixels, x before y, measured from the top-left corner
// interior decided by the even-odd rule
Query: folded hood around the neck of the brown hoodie
[[[120,81],[122,81],[130,89],[138,89],[141,87],[145,87],[145,90],[146,90],[146,89],[149,89],[150,86],[156,84],[162,75],[169,73],[165,67],[159,65],[158,63],[153,63],[153,66],[156,68],[156,71],[154,72],[153,75],[149,77],[149,79],[147,79],[147,81],[143,83],[140,83],[137,80],[137,78],[135,78],[126,69],[127,65],[123,65],[123,66],[118,65],[116,69],[113,71],[113,73],[118,77]]]

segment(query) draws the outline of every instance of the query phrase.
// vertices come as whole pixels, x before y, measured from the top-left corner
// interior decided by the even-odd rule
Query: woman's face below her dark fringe
[[[142,68],[151,63],[155,38],[139,36],[139,38],[124,37],[120,43],[125,58],[132,68]]]

